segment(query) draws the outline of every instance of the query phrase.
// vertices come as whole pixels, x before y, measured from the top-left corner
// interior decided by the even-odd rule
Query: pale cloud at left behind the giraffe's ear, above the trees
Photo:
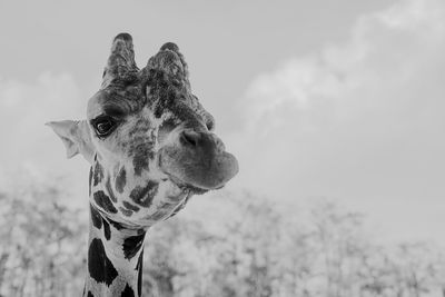
[[[86,105],[68,73],[44,72],[32,82],[0,78],[1,181],[20,185],[18,179],[32,178],[39,184],[67,176],[75,187],[77,180],[86,184],[86,178],[72,178],[81,171],[88,175],[83,165],[79,160],[66,164],[61,141],[44,126],[50,120],[85,118]]]

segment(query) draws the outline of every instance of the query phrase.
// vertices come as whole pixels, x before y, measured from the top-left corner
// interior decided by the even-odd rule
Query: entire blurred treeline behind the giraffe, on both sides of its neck
[[[50,186],[0,194],[1,296],[80,296],[87,208],[60,197]],[[149,232],[144,296],[445,296],[438,248],[375,245],[364,217],[334,204],[300,219],[248,194],[195,199]]]

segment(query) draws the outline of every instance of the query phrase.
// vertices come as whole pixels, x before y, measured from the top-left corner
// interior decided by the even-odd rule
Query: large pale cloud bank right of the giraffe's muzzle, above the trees
[[[230,139],[236,186],[379,209],[443,197],[443,52],[445,2],[403,0],[360,17],[345,43],[258,76]]]

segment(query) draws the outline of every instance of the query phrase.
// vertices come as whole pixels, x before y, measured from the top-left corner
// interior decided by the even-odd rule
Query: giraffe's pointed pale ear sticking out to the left
[[[51,127],[62,140],[67,149],[67,158],[72,158],[77,154],[81,154],[87,161],[92,164],[95,150],[86,120],[50,121],[46,125]]]

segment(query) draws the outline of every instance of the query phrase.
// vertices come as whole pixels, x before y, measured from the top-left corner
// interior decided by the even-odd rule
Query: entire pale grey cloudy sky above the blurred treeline
[[[1,0],[0,187],[60,179],[86,201],[88,165],[43,123],[85,118],[123,31],[139,67],[180,47],[239,160],[229,191],[326,197],[382,239],[445,244],[444,1]]]

